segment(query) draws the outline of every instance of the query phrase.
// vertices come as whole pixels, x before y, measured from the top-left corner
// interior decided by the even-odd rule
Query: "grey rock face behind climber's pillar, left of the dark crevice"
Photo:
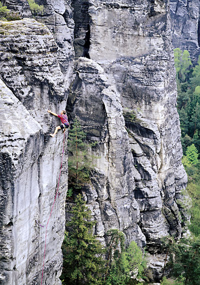
[[[72,19],[72,8],[70,0],[47,0],[36,1],[43,7],[42,11],[31,10],[27,0],[5,0],[4,4],[11,11],[16,11],[21,18],[34,18],[51,32],[57,44],[57,60],[64,78],[65,90],[68,90],[72,80],[73,60],[73,33],[74,21]]]

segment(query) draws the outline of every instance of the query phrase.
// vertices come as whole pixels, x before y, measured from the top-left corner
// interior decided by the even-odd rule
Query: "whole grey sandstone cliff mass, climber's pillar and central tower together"
[[[26,1],[14,3],[32,17]],[[102,242],[118,228],[154,253],[162,236],[181,236],[187,218],[178,205],[186,175],[169,1],[49,0],[34,17],[0,22],[2,284],[41,279],[45,227],[37,223],[45,226],[50,213],[63,138],[49,138],[58,120],[48,108],[66,108],[96,142],[83,195]],[[67,158],[47,232],[45,284],[59,282],[66,190]]]

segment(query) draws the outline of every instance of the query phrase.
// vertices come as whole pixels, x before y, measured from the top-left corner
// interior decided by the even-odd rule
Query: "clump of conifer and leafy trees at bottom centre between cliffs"
[[[125,248],[125,236],[118,229],[106,233],[109,242],[102,247],[93,235],[95,221],[80,194],[75,199],[71,215],[62,245],[63,284],[128,285],[131,276],[142,272],[141,249],[134,241]]]

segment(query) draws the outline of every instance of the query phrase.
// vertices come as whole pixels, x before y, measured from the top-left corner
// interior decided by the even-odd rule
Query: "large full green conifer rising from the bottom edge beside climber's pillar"
[[[101,271],[104,268],[102,247],[92,229],[91,212],[79,194],[71,211],[68,222],[69,232],[63,243],[63,271],[66,285],[101,285]]]

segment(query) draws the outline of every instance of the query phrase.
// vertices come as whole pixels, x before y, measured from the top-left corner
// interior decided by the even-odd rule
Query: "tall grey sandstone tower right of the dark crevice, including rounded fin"
[[[100,229],[102,225],[104,231],[119,228],[128,241],[139,244],[144,241],[142,230],[149,249],[154,250],[160,237],[181,234],[177,202],[186,184],[169,3],[89,4],[90,61],[77,60],[77,78],[68,98],[68,110],[79,117],[88,139],[99,146],[94,153],[100,163],[86,196],[88,203],[95,201],[93,209],[98,207],[96,202],[100,205]],[[92,70],[91,64],[106,79],[104,89],[96,79],[99,71]]]

